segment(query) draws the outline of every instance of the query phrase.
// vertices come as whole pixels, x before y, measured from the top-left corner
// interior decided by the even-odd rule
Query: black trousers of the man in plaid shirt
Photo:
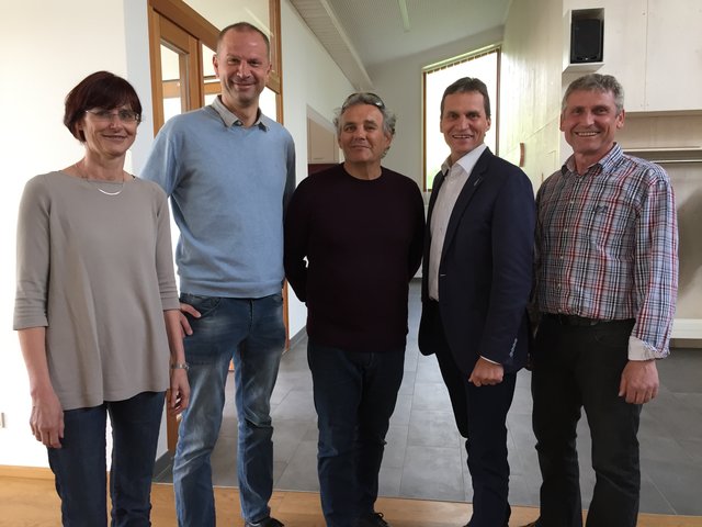
[[[576,426],[580,408],[592,437],[595,492],[588,527],[634,527],[638,514],[641,405],[618,395],[633,321],[559,325],[544,317],[533,356],[533,425],[541,527],[582,525]]]

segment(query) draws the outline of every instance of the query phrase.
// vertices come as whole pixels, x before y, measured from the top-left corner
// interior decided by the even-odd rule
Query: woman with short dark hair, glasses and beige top
[[[18,222],[30,425],[48,449],[64,525],[105,526],[109,415],[112,525],[146,526],[163,393],[172,414],[189,400],[168,205],[124,170],[141,113],[126,80],[92,74],[65,106],[84,156],[31,179]]]

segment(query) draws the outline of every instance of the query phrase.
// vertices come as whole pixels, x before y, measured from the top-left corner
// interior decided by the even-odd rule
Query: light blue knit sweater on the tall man
[[[223,112],[220,102],[217,108]],[[295,188],[293,138],[264,115],[247,128],[227,126],[219,112],[210,105],[169,120],[141,177],[171,198],[181,292],[279,293],[283,212]]]

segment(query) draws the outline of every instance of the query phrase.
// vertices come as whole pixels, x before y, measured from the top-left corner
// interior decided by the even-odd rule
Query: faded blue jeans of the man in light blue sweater
[[[229,361],[234,360],[239,421],[237,475],[241,515],[270,514],[273,492],[271,393],[285,344],[283,299],[229,299],[183,293],[200,318],[190,317],[185,338],[190,406],[183,412],[173,461],[178,525],[215,525],[211,456],[219,435]]]

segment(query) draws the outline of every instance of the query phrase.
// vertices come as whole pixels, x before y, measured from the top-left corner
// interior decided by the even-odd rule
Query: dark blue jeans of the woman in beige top
[[[113,527],[151,525],[151,478],[163,412],[162,392],[143,392],[126,401],[64,412],[63,448],[49,448],[48,461],[61,498],[63,525],[107,525],[105,426],[112,425],[110,497]]]

